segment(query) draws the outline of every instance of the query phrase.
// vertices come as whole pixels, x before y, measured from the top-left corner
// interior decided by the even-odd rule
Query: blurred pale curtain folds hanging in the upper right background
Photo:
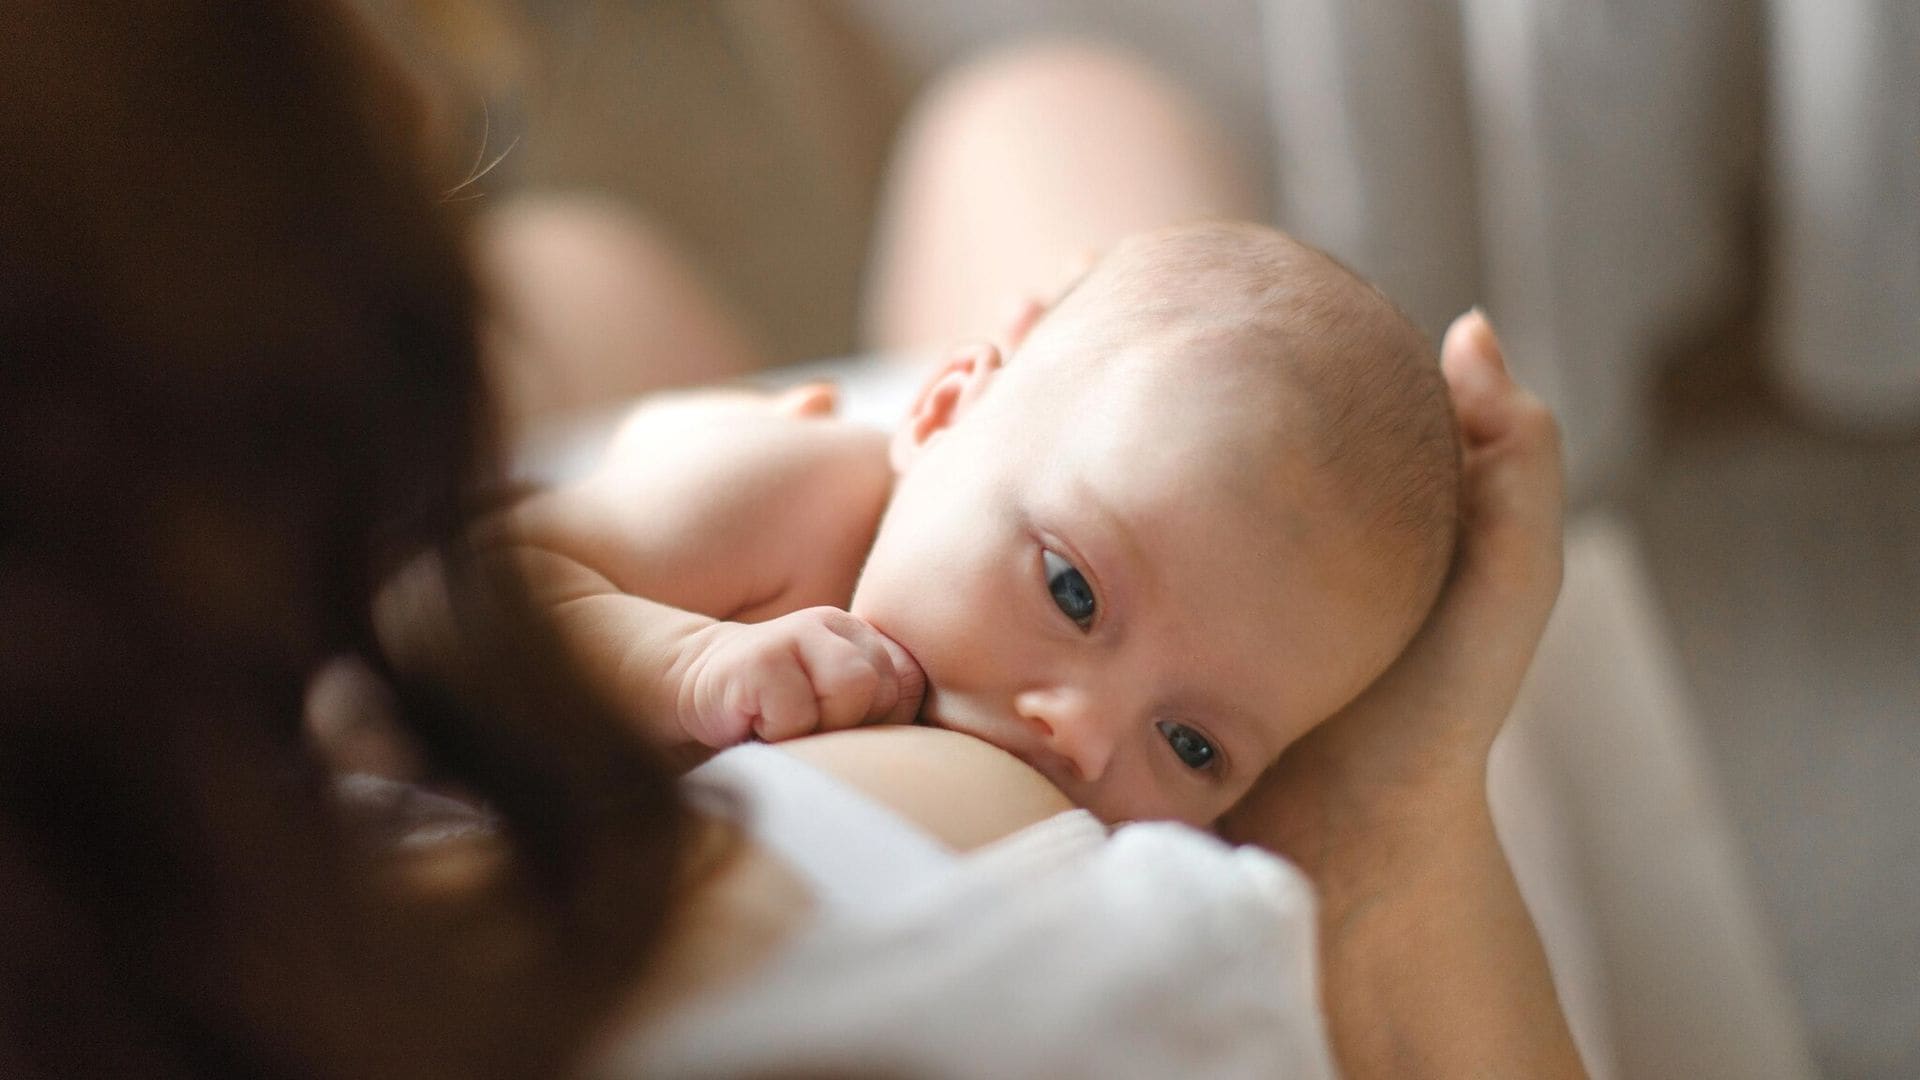
[[[1788,404],[1920,430],[1920,4],[1260,12],[1279,221],[1434,334],[1486,304],[1576,502],[1645,465],[1659,377],[1751,294]]]

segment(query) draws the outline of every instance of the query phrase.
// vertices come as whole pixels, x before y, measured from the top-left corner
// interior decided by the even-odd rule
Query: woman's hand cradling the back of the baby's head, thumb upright
[[[1304,736],[1221,822],[1308,872],[1327,830],[1484,807],[1486,757],[1561,580],[1561,455],[1551,413],[1509,379],[1475,309],[1440,350],[1465,440],[1461,548],[1434,611],[1352,705]]]

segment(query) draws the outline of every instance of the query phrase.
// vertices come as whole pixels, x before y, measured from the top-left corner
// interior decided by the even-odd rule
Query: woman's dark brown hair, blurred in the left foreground
[[[453,540],[476,294],[413,111],[319,0],[0,6],[0,1074],[555,1074],[659,938],[668,773]],[[386,675],[507,849],[432,896],[301,740],[419,548],[486,682]]]

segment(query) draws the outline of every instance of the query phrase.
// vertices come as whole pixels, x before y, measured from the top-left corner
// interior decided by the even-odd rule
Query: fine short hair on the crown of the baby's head
[[[1382,592],[1409,601],[1411,636],[1452,565],[1461,452],[1432,346],[1379,288],[1277,229],[1204,221],[1117,244],[1043,332],[1092,352],[1158,340],[1156,354],[1179,354],[1242,415],[1258,409],[1244,427],[1338,492],[1382,567]]]

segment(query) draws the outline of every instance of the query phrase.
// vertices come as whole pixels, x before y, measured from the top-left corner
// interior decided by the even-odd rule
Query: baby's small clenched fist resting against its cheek
[[[925,688],[906,650],[839,607],[714,623],[687,646],[680,726],[707,746],[910,723]]]

